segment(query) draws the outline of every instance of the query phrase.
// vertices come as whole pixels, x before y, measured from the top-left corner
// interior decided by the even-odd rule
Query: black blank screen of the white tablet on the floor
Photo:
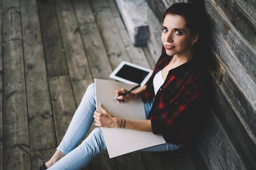
[[[140,84],[149,72],[124,64],[115,76]]]

